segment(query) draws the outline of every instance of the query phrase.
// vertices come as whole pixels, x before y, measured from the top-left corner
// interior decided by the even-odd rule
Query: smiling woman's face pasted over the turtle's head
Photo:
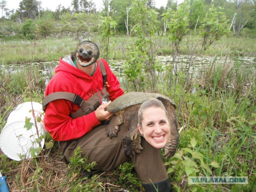
[[[166,112],[160,107],[149,107],[142,111],[140,134],[155,148],[163,148],[170,138],[170,124]]]

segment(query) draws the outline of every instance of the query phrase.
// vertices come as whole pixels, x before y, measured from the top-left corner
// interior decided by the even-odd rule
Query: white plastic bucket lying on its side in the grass
[[[32,110],[33,106],[33,110]],[[30,148],[38,148],[36,142],[41,135],[45,135],[43,116],[41,122],[34,121],[43,113],[42,105],[36,102],[22,103],[10,113],[6,125],[0,134],[0,148],[2,152],[13,160],[20,161],[21,158],[31,158]],[[24,128],[26,118],[31,118],[33,124],[30,130]],[[38,131],[36,129],[36,126]],[[40,142],[44,146],[44,138]],[[37,155],[37,154],[36,154]]]

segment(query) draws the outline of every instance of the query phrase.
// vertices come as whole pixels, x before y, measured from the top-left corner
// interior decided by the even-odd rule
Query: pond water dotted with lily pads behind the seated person
[[[156,60],[163,65],[163,67],[172,64],[172,56],[157,56]],[[45,62],[45,63],[33,63],[33,66],[38,68],[42,73],[48,74],[54,71],[54,68],[58,66],[58,61],[56,62]],[[118,76],[122,76],[123,72],[123,63],[124,60],[108,60],[110,68],[114,71]],[[239,64],[240,66],[244,66],[249,70],[256,71],[256,58],[255,57],[238,57],[238,58],[230,58],[230,57],[211,57],[211,56],[198,56],[194,60],[194,64],[190,68],[193,74],[199,74],[203,72],[211,65],[217,64]],[[175,67],[177,67],[178,71],[186,71],[188,69],[189,59],[188,56],[178,56],[175,60]],[[24,64],[24,66],[28,66],[28,64]],[[12,64],[8,65],[5,68],[6,71],[14,72],[20,65]]]

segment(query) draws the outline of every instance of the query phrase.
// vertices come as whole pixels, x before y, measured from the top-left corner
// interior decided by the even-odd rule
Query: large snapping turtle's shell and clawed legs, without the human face
[[[124,123],[128,129],[125,138],[124,151],[127,155],[140,153],[142,146],[140,145],[141,134],[138,130],[138,110],[140,105],[150,98],[157,98],[160,100],[168,112],[170,120],[170,138],[165,145],[164,155],[166,158],[170,158],[176,152],[179,133],[177,130],[178,126],[175,113],[176,105],[170,98],[164,95],[157,93],[130,92],[116,98],[106,107],[108,112],[115,114],[106,128],[107,135],[110,138],[116,136],[119,126]]]

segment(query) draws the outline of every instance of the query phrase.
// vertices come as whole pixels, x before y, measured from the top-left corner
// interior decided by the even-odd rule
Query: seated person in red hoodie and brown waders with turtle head
[[[146,191],[170,191],[159,149],[142,138],[143,150],[127,156],[123,124],[117,137],[107,136],[105,122],[113,114],[104,108],[124,91],[106,60],[98,57],[98,46],[84,41],[75,54],[60,58],[43,100],[46,130],[58,141],[66,163],[78,146],[83,157],[96,162],[94,170],[110,171],[131,159]]]

